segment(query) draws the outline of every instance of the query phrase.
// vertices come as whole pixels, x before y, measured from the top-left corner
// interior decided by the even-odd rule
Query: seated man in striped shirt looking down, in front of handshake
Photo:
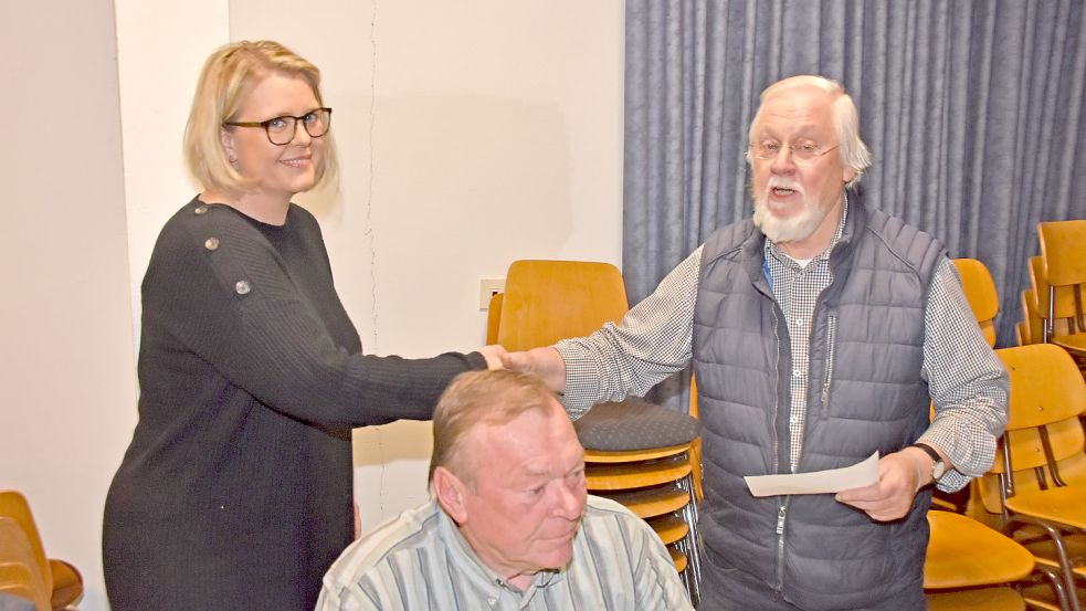
[[[534,376],[457,377],[434,413],[433,499],[351,544],[317,611],[689,610],[660,538],[588,496],[584,449]]]

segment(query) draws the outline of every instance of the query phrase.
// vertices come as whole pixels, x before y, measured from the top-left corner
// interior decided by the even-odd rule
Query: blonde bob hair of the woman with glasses
[[[250,89],[270,74],[304,78],[317,103],[320,95],[320,71],[298,54],[274,41],[232,42],[208,57],[200,72],[189,122],[184,127],[184,164],[203,189],[239,196],[253,187],[226,158],[220,133],[223,123],[233,120]],[[316,185],[338,171],[336,143],[331,133],[324,155],[316,167]],[[315,186],[316,186],[315,185]]]

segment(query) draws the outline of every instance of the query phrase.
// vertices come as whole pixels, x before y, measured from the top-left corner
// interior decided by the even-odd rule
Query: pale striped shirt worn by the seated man
[[[484,566],[431,501],[351,544],[331,566],[316,611],[693,610],[671,556],[649,524],[589,495],[572,560],[536,573],[527,590]]]

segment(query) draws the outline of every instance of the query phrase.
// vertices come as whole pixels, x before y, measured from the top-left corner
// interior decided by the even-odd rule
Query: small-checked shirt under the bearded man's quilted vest
[[[847,213],[847,202],[845,214]],[[833,280],[829,253],[841,238],[845,214],[831,245],[801,266],[766,241],[766,262],[773,296],[788,318],[795,366],[791,378],[792,470],[799,462],[806,415],[811,320],[819,294]],[[652,295],[591,336],[556,344],[566,364],[562,399],[573,418],[601,401],[644,396],[690,361],[694,304],[702,247],[672,270]],[[939,489],[961,489],[983,475],[995,456],[995,440],[1006,424],[1008,376],[988,346],[949,259],[936,270],[924,315],[924,364],[917,375],[928,382],[936,418],[918,441],[946,452],[953,468]]]

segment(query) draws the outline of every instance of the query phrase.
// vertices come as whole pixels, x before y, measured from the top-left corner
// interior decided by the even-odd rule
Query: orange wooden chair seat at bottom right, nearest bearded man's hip
[[[1010,583],[1033,571],[1030,550],[972,518],[928,512],[928,525],[925,589]]]

